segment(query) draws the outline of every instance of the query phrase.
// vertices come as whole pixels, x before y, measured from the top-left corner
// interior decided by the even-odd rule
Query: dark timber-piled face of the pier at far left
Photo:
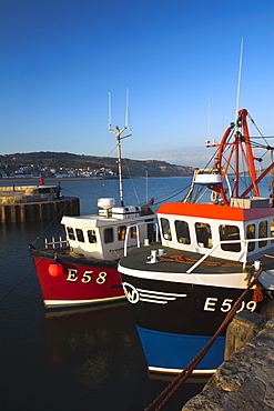
[[[21,203],[0,203],[0,222],[29,222],[52,220],[57,215],[79,215],[80,201],[77,197]]]

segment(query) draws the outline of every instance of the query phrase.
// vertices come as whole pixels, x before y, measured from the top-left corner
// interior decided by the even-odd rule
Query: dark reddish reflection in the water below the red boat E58
[[[141,343],[126,302],[47,313],[43,360],[54,371],[75,374],[97,392],[112,375],[115,375],[119,391],[119,378],[126,380],[132,370],[134,373],[145,371]]]

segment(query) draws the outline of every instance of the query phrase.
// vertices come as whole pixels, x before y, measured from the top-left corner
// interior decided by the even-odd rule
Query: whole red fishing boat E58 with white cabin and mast
[[[113,198],[101,198],[98,214],[63,215],[64,240],[45,241],[43,248],[29,247],[47,309],[125,299],[118,272],[124,241],[134,248],[139,241],[152,240],[152,225],[146,224],[154,219],[150,204],[124,206],[123,201],[121,139],[131,136],[122,137],[126,128],[112,130],[109,123],[118,142],[120,206],[115,207]]]

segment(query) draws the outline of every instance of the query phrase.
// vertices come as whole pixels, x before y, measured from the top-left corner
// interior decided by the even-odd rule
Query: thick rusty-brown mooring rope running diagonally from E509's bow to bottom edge
[[[247,288],[239,297],[233,308],[226,314],[225,319],[223,320],[223,322],[221,323],[221,325],[219,327],[214,335],[210,339],[210,341],[202,348],[202,350],[196,354],[196,357],[185,367],[185,369],[176,378],[174,378],[174,380],[159,394],[159,397],[148,408],[145,408],[145,411],[151,411],[151,410],[160,411],[166,405],[166,403],[175,394],[179,388],[186,381],[186,379],[191,375],[192,371],[197,367],[197,364],[203,359],[203,357],[206,354],[209,349],[212,347],[213,342],[216,340],[219,334],[224,330],[224,328],[232,320],[242,300],[244,299],[245,294],[255,284],[255,281],[257,280],[262,271],[263,271],[263,268],[261,267],[256,275],[254,277],[254,279],[247,284]],[[158,404],[159,407],[156,407]]]

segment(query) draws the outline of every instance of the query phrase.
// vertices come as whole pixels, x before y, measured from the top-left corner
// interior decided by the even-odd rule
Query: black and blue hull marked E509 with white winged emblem
[[[123,260],[121,264],[123,263]],[[161,281],[138,277],[139,272],[119,268],[125,295],[150,371],[181,372],[207,343],[244,288],[213,287],[195,283]],[[125,273],[126,272],[126,273]],[[142,274],[141,274],[142,275]],[[190,274],[191,275],[191,274]],[[243,282],[244,273],[237,273]],[[216,275],[215,275],[216,277]],[[257,310],[251,290],[239,311]],[[225,332],[225,331],[224,331]],[[194,373],[209,374],[224,361],[224,332],[199,363]]]

